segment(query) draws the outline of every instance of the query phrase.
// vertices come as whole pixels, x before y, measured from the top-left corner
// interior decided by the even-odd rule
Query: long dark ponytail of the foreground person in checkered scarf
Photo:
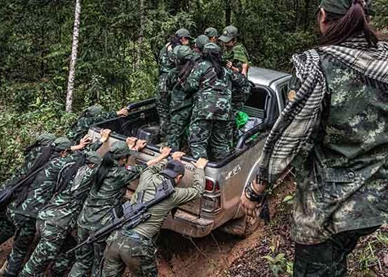
[[[365,34],[368,44],[376,45],[379,39],[369,25],[368,15],[365,13],[365,1],[353,0],[352,6],[345,15],[326,13],[326,22],[330,23],[327,32],[319,41],[319,46],[339,45],[357,34]],[[320,19],[321,13],[318,15]]]

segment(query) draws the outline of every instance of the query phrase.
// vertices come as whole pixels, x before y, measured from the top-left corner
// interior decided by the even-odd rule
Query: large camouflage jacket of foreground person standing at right
[[[388,218],[387,84],[325,54],[321,67],[330,96],[313,150],[292,162],[297,183],[292,235],[302,244]],[[290,84],[294,91],[301,86],[295,75]]]

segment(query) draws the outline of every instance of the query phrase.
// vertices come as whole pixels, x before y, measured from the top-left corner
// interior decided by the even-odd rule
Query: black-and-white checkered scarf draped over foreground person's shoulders
[[[315,131],[320,127],[325,94],[329,94],[320,56],[327,54],[365,77],[388,84],[388,44],[368,46],[364,37],[349,39],[339,46],[324,46],[294,55],[292,61],[301,88],[282,111],[271,129],[261,159],[258,177],[269,183],[276,181],[299,153],[313,148]],[[387,86],[388,87],[388,86]]]

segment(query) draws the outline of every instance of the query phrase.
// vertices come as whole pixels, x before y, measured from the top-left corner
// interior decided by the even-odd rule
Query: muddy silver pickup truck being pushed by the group
[[[256,122],[260,123],[239,137],[237,146],[225,160],[208,163],[205,169],[206,186],[201,199],[180,207],[174,217],[168,217],[163,228],[191,237],[204,237],[219,227],[234,235],[246,234],[247,224],[240,207],[240,196],[245,184],[254,179],[265,138],[284,108],[290,77],[286,73],[265,68],[249,69],[249,79],[254,87],[243,111],[249,117],[258,118]],[[127,136],[139,136],[145,129],[158,128],[158,114],[153,98],[132,103],[129,108],[130,115],[127,117],[99,122],[89,128],[89,136],[93,141],[99,139],[101,129],[112,130],[108,143],[101,149],[101,154],[108,150],[113,141],[125,140]],[[158,143],[160,142],[150,139],[144,150],[131,156],[132,165],[147,162],[159,155]],[[184,156],[182,162],[186,166],[186,172],[180,186],[187,187],[194,172],[192,162],[195,160]],[[129,198],[137,184],[138,181],[133,181],[128,186]],[[236,226],[231,228],[230,224],[232,222],[235,224],[236,221],[244,224],[237,224],[237,228],[234,228]]]

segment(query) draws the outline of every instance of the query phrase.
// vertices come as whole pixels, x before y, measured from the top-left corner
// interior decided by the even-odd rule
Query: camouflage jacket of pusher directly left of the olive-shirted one
[[[113,209],[117,209],[120,214],[121,200],[128,183],[137,179],[145,168],[146,165],[135,165],[130,169],[112,167],[99,191],[94,187],[89,192],[78,217],[78,225],[87,230],[96,231],[110,223],[113,219]]]

